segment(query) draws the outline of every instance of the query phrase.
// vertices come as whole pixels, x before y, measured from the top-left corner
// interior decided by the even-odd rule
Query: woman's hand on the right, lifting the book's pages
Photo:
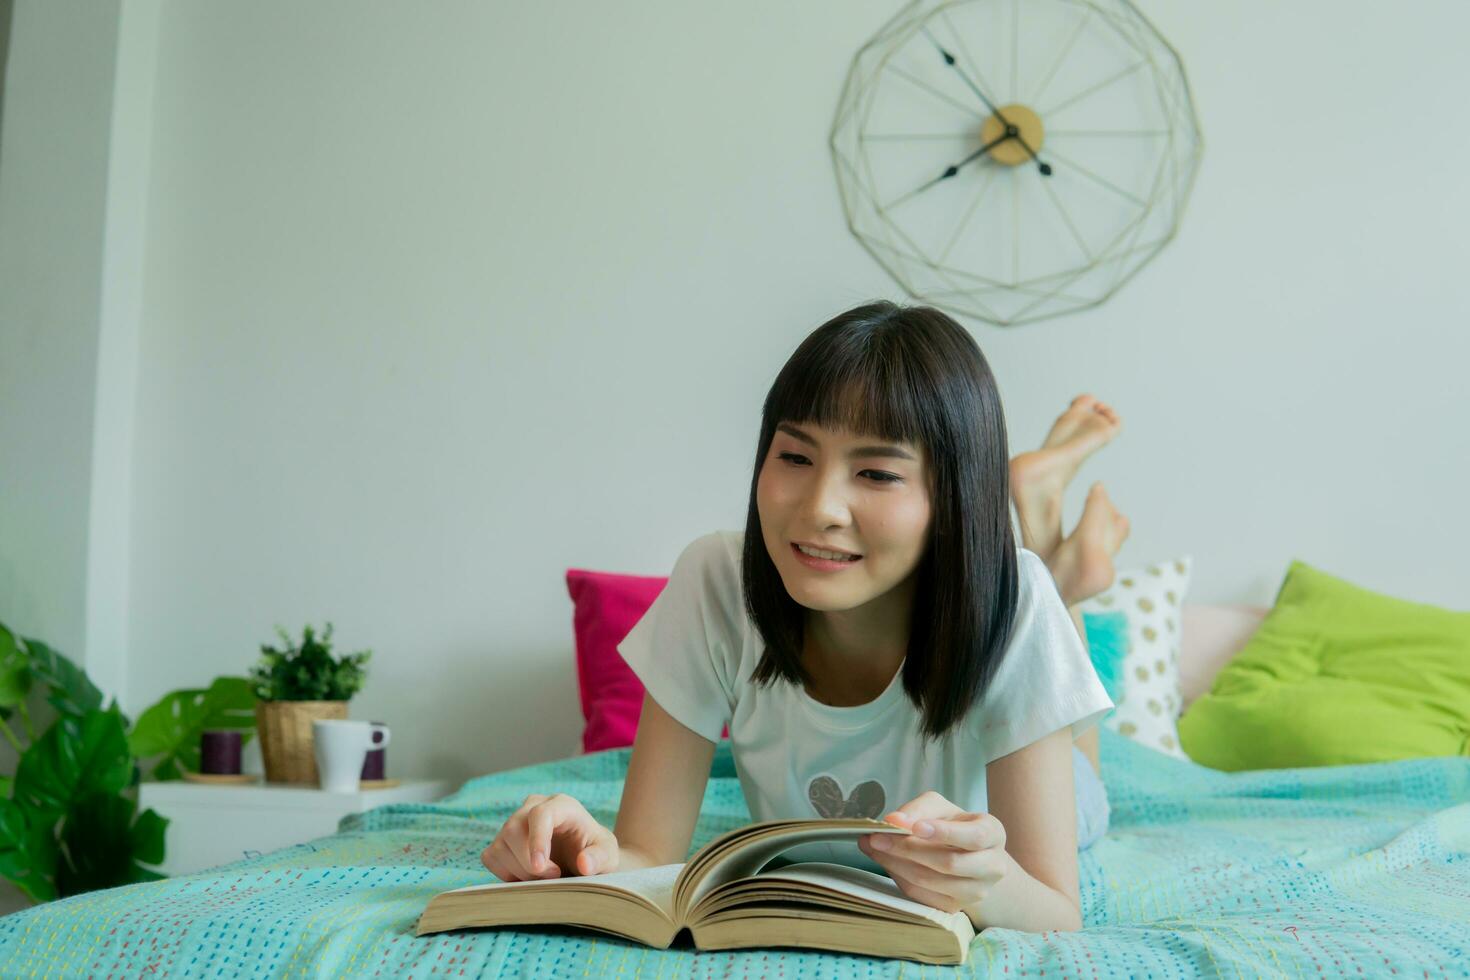
[[[870,833],[858,837],[857,846],[916,902],[945,912],[967,911],[1010,868],[1001,821],[991,814],[964,813],[933,790],[883,820],[913,836]]]

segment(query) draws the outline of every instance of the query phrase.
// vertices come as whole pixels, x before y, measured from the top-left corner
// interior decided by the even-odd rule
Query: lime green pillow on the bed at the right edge
[[[1179,742],[1223,770],[1470,755],[1470,613],[1292,561],[1276,604]]]

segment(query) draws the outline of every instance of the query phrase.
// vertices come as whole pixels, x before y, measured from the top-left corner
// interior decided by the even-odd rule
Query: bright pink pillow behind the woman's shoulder
[[[584,752],[634,743],[644,686],[617,652],[617,644],[632,632],[667,582],[667,576],[566,572],[576,635],[576,686],[587,721]]]

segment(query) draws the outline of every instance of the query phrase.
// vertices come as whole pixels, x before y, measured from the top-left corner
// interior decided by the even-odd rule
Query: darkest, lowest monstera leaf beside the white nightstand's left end
[[[163,860],[168,820],[151,810],[135,818],[137,810],[132,799],[115,793],[96,793],[79,801],[62,830],[56,890],[63,898],[163,877],[138,861],[157,864]]]

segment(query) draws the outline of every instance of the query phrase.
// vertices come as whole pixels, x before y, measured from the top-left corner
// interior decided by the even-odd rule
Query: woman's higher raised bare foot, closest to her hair
[[[1047,433],[1039,450],[1010,461],[1011,498],[1020,519],[1022,545],[1042,560],[1061,544],[1061,491],[1082,460],[1122,430],[1113,408],[1092,395],[1078,395]]]

